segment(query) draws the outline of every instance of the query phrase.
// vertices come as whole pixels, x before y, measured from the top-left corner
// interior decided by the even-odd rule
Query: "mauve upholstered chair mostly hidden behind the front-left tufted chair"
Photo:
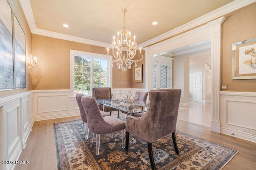
[[[78,107],[79,107],[79,110],[80,110],[80,115],[81,115],[81,119],[83,121],[83,134],[85,134],[86,132],[86,140],[88,139],[88,136],[89,136],[89,129],[87,127],[87,119],[86,119],[86,115],[85,115],[85,112],[84,112],[84,108],[82,106],[82,102],[81,102],[81,98],[82,96],[84,96],[84,94],[82,93],[77,93],[76,94],[76,102],[78,104]],[[102,116],[108,116],[108,113],[104,112],[104,111],[100,111],[101,115]],[[84,125],[85,124],[85,125]],[[87,129],[87,131],[86,131]]]

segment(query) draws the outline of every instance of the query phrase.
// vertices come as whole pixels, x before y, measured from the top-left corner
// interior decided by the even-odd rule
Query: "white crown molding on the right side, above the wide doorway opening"
[[[158,35],[148,41],[145,41],[144,43],[141,43],[138,46],[140,46],[142,48],[147,47],[147,46],[157,43],[163,39],[169,38],[173,35],[176,35],[178,33],[186,31],[188,29],[192,29],[194,27],[197,27],[198,25],[202,25],[202,24],[212,21],[218,17],[224,16],[225,14],[228,14],[230,12],[238,10],[239,8],[247,6],[254,2],[256,2],[256,0],[234,0],[233,2],[230,2],[229,4],[226,4],[226,5],[220,7],[212,12],[209,12],[199,18],[196,18],[195,20],[192,20],[192,21],[185,23],[179,27],[176,27],[166,33],[163,33],[163,34]]]

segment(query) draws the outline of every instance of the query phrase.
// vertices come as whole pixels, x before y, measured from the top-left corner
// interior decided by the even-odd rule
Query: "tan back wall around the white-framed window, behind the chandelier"
[[[32,53],[39,63],[33,77],[33,90],[70,89],[70,49],[106,54],[104,47],[32,34]],[[132,69],[118,70],[114,63],[113,88],[144,88],[145,83],[134,85],[132,73]]]

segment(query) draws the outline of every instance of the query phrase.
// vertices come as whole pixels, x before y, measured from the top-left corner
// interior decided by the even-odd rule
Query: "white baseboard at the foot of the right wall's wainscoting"
[[[227,129],[227,128],[222,127],[222,128],[220,128],[220,133],[256,143],[256,136],[248,135],[246,133],[242,133],[242,132],[235,131],[232,129]]]

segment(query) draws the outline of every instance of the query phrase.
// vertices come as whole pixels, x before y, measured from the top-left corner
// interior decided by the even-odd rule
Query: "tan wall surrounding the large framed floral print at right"
[[[221,84],[227,91],[256,92],[256,79],[231,80],[232,43],[256,38],[256,2],[225,16],[222,24]]]

